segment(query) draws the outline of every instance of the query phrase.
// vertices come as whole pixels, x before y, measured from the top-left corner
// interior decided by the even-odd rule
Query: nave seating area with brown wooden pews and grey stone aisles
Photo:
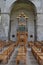
[[[43,42],[35,42],[35,44],[34,42],[29,42],[26,46],[25,56],[23,46],[20,47],[12,41],[7,42],[7,44],[3,41],[3,43],[4,47],[0,45],[0,65],[43,65]],[[18,56],[18,54],[20,55]],[[24,60],[21,61],[21,57],[26,60],[25,63]]]

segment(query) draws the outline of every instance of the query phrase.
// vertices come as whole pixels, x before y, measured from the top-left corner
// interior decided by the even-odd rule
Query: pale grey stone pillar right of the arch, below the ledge
[[[43,41],[43,14],[37,14],[37,40]]]

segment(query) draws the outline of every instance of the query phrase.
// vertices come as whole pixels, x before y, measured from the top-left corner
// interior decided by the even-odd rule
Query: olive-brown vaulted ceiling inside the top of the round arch
[[[25,9],[28,11],[32,11],[34,15],[36,15],[36,7],[35,5],[28,0],[16,0],[12,5],[11,14],[20,9]]]

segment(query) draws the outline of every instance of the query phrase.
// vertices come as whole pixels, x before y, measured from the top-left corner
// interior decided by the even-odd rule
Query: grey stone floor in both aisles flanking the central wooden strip
[[[16,48],[8,62],[8,64],[0,64],[0,65],[16,65],[16,56],[17,56],[17,51],[18,48]],[[26,65],[39,65],[36,61],[36,59],[34,58],[34,56],[32,55],[31,49],[27,49],[27,55],[26,55]],[[23,63],[20,63],[19,65],[25,65]]]

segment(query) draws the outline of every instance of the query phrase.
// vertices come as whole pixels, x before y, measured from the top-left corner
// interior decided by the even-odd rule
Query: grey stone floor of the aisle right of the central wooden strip
[[[27,65],[39,65],[30,49],[27,50]]]

